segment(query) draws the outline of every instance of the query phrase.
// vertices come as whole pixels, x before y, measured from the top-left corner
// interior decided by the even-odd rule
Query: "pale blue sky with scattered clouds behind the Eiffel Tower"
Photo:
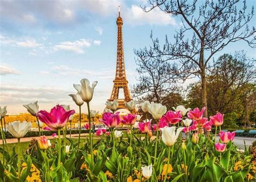
[[[172,38],[179,30],[179,18],[159,9],[145,13],[140,5],[148,6],[146,0],[0,1],[0,106],[7,105],[9,114],[24,113],[22,104],[38,101],[40,110],[59,103],[77,111],[68,95],[76,93],[74,83],[87,78],[98,81],[91,109],[103,111],[116,68],[118,6],[130,87],[139,76],[134,49],[151,44],[151,31],[163,42],[165,34]],[[255,26],[255,18],[253,22]],[[221,53],[241,49],[249,57],[256,55],[245,43]]]

